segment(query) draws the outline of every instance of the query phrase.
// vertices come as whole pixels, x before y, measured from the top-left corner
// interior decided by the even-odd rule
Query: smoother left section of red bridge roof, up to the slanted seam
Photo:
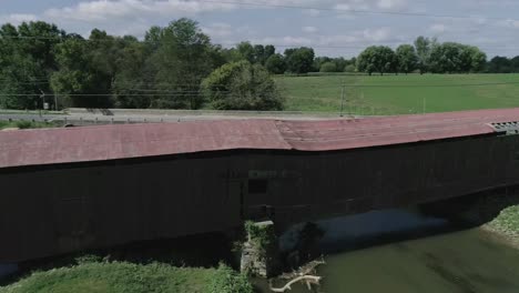
[[[268,120],[0,131],[0,168],[233,149],[291,146]]]

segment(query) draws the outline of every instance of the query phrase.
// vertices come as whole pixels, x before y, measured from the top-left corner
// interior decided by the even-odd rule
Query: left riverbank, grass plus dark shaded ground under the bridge
[[[251,293],[223,234],[147,241],[18,264],[0,293]],[[0,265],[1,266],[1,265]]]

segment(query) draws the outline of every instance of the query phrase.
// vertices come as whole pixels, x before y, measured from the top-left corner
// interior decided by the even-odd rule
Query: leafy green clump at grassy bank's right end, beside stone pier
[[[253,293],[254,289],[244,274],[220,264],[208,284],[208,293]]]

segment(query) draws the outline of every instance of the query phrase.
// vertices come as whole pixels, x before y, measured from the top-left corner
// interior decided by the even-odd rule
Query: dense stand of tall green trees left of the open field
[[[84,39],[42,21],[8,23],[0,28],[0,108],[282,110],[263,65],[274,52],[213,44],[190,19],[152,27],[144,40],[98,29]]]

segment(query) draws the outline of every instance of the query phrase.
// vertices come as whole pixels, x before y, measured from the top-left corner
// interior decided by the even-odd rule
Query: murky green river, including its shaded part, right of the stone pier
[[[326,233],[320,246],[327,256],[318,270],[322,286],[314,292],[519,292],[519,251],[480,229],[457,229],[410,210],[318,225]],[[271,292],[266,282],[256,284],[260,292]],[[309,291],[298,284],[287,292]]]

